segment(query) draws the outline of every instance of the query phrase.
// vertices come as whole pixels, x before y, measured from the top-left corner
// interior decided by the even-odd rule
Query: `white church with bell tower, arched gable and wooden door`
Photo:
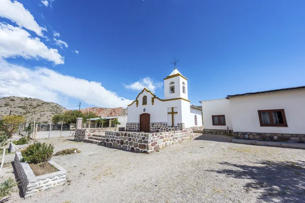
[[[175,68],[164,78],[164,99],[146,87],[128,105],[126,131],[162,132],[202,128],[201,110],[190,106],[188,79]]]

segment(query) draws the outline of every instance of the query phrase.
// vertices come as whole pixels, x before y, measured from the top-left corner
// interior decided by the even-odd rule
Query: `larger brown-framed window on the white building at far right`
[[[258,117],[260,126],[288,126],[284,109],[259,110]]]

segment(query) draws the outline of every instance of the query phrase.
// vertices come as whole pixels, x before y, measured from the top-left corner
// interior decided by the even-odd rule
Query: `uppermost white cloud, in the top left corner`
[[[18,26],[36,32],[43,37],[42,31],[47,31],[45,27],[39,26],[33,15],[17,1],[0,0],[0,17],[10,19]]]

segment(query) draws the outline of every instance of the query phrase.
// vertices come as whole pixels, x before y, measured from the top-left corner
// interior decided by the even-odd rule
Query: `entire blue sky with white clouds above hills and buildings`
[[[0,7],[1,97],[126,106],[143,86],[163,97],[173,57],[194,105],[305,85],[304,1],[0,0]]]

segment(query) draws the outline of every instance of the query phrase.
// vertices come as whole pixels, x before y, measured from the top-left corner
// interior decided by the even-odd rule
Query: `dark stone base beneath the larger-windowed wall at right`
[[[233,132],[233,137],[235,139],[245,139],[245,140],[305,143],[305,134]]]

